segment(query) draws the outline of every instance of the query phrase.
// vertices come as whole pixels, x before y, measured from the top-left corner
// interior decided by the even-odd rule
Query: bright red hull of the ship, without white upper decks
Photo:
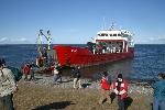
[[[121,61],[125,58],[132,58],[134,56],[133,47],[129,47],[128,52],[123,53],[105,53],[105,54],[103,53],[92,54],[87,47],[56,45],[53,48],[56,53],[57,62],[63,66],[70,66],[70,65],[90,66]]]

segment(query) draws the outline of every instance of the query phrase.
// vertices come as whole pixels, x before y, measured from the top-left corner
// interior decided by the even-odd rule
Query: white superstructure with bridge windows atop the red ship
[[[107,47],[113,52],[128,52],[129,47],[134,47],[132,33],[128,30],[116,30],[111,26],[110,30],[102,30],[94,37],[92,43],[98,46]]]

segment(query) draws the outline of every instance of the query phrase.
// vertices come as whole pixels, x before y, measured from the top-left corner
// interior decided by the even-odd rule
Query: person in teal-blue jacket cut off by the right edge
[[[153,110],[165,110],[165,75],[160,73],[157,75],[158,80],[155,81],[152,87],[154,89],[154,102]]]

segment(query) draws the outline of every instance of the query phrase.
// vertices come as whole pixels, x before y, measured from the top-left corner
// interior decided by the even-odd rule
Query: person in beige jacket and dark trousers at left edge
[[[13,73],[0,59],[0,101],[7,110],[14,110],[12,97],[16,90]]]

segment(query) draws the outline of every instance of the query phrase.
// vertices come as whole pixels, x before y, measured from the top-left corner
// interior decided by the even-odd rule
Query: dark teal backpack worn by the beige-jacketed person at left
[[[19,68],[11,67],[11,66],[8,66],[8,68],[13,73],[15,81],[19,81],[22,78],[23,74]]]

